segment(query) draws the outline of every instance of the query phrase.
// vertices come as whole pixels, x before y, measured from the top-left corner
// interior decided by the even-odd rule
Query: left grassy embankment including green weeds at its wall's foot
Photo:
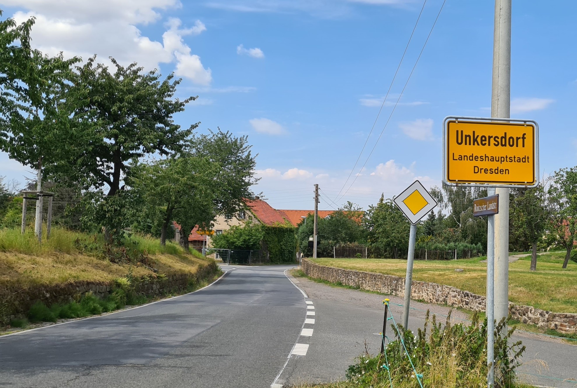
[[[194,275],[200,266],[211,262],[212,259],[205,258],[197,251],[185,252],[172,242],[162,247],[159,240],[144,236],[132,236],[125,241],[124,247],[110,252],[104,247],[101,235],[54,227],[50,240],[44,240],[40,245],[32,230],[27,230],[23,235],[19,229],[2,229],[0,290],[24,290],[82,281],[115,285],[115,292],[106,300],[88,295],[80,299],[76,296],[77,300],[63,305],[45,306],[36,303],[28,314],[4,323],[12,327],[25,327],[28,319],[31,322],[54,322],[58,318],[80,318],[112,311],[127,304],[145,303],[150,298],[137,296],[131,282],[143,278],[165,279],[171,275]],[[204,283],[201,281],[189,285],[189,288],[196,289]],[[6,316],[3,318],[6,320]]]

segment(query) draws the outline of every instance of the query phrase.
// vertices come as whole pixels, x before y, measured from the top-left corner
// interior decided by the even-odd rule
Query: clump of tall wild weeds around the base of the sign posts
[[[447,318],[443,325],[436,322],[434,315],[432,319],[429,319],[429,313],[427,313],[425,327],[419,329],[417,334],[403,330],[400,325],[397,331],[395,326],[391,325],[396,339],[388,342],[384,354],[371,356],[365,352],[359,357],[359,362],[351,365],[347,370],[346,381],[319,385],[319,387],[420,388],[419,379],[424,388],[486,387],[487,324],[486,320],[479,322],[476,314],[472,321],[469,325],[451,324]],[[503,320],[497,325],[497,332],[504,329],[504,322]],[[520,341],[511,344],[513,331],[514,329],[508,330],[503,338],[495,336],[494,355],[495,375],[497,376],[495,387],[497,388],[523,386],[517,381],[515,370],[519,366],[519,358],[525,348]],[[400,337],[397,333],[400,333]],[[401,353],[400,338],[409,353],[408,357]],[[387,341],[385,340],[385,343]]]

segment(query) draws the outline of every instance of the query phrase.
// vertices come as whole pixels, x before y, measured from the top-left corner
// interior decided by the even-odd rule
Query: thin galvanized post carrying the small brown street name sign
[[[488,188],[487,195],[494,195],[495,189]],[[494,387],[494,349],[495,349],[495,325],[494,325],[494,271],[495,271],[495,216],[487,217],[487,295],[485,300],[485,314],[487,316],[487,387]]]

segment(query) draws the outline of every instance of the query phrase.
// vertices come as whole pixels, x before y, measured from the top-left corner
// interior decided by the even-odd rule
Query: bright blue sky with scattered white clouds
[[[276,208],[365,208],[415,178],[441,181],[447,115],[490,115],[493,2],[447,0],[400,103],[368,160],[442,0],[428,0],[350,191],[337,196],[376,119],[422,1],[0,0],[5,16],[36,16],[42,51],[113,55],[183,77],[198,95],[177,121],[248,135],[254,188]],[[512,117],[539,123],[541,173],[577,164],[575,2],[514,1]],[[0,175],[29,169],[0,154]]]

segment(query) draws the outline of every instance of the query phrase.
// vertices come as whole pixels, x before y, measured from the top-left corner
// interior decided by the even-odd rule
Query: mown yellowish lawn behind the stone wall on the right
[[[509,264],[509,300],[554,312],[577,312],[577,264],[561,268],[565,252],[538,255],[537,271],[529,271],[530,257]],[[485,295],[484,257],[445,261],[415,260],[413,279],[433,282]],[[312,259],[311,259],[312,260]],[[313,260],[323,266],[404,277],[407,261],[395,259]],[[463,272],[455,269],[462,268]]]

